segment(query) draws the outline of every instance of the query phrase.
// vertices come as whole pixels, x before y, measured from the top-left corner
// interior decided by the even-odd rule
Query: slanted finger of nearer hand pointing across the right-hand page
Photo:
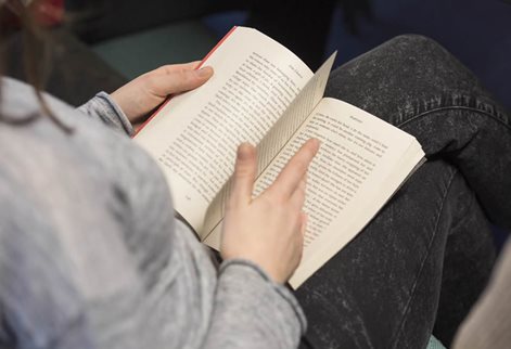
[[[319,150],[319,141],[310,139],[296,152],[284,169],[279,173],[270,191],[283,197],[290,197]]]

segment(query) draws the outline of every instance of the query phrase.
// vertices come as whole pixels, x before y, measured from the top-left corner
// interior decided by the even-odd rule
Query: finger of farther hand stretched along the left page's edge
[[[169,94],[193,90],[206,82],[213,75],[212,67],[199,70],[176,70],[166,75],[148,77],[151,93],[165,98]]]

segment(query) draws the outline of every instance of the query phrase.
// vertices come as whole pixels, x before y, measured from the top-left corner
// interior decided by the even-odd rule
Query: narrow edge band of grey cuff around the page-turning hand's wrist
[[[238,273],[250,273],[252,274],[251,279],[258,279],[270,292],[274,293],[276,298],[281,299],[283,303],[288,307],[289,314],[285,318],[289,320],[288,315],[294,315],[299,324],[299,335],[304,335],[307,329],[307,320],[305,318],[304,311],[298,303],[298,300],[294,294],[284,285],[274,282],[265,270],[263,270],[256,263],[241,258],[229,259],[223,261],[220,264],[219,275],[222,274],[238,274]],[[241,277],[242,279],[242,277]]]

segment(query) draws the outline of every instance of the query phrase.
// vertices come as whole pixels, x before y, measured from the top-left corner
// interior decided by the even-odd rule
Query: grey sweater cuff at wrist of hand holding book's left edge
[[[98,93],[89,102],[78,107],[78,111],[91,118],[101,120],[117,131],[128,135],[133,133],[133,127],[128,117],[106,92]]]

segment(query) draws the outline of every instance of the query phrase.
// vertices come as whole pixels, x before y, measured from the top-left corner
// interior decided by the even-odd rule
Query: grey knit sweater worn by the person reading
[[[40,114],[1,80],[0,115]],[[153,160],[106,93],[0,122],[0,348],[294,348],[294,296],[243,260],[217,270],[174,218]]]

